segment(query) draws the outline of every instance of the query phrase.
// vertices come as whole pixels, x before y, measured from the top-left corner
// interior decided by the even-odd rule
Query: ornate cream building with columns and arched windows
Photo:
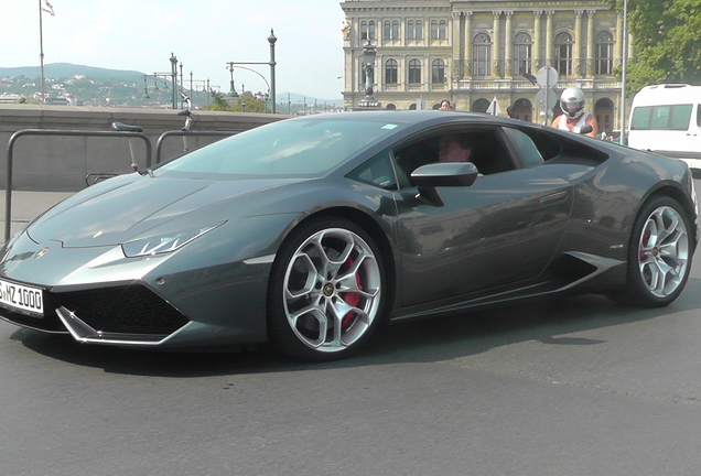
[[[546,106],[559,113],[560,91],[576,86],[602,130],[617,129],[623,17],[606,0],[346,0],[341,8],[346,109],[365,97],[370,43],[382,108],[432,109],[450,99],[484,112],[496,98],[502,115],[511,106],[515,117],[544,123]],[[528,79],[546,65],[559,75],[550,95]]]

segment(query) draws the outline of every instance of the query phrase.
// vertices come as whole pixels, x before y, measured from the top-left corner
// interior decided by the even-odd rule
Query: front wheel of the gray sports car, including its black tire
[[[381,256],[363,228],[335,217],[302,224],[284,240],[271,270],[271,345],[305,360],[349,356],[379,325],[385,286]]]

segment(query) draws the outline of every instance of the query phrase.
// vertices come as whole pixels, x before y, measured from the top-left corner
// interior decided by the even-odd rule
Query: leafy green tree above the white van
[[[611,2],[623,11],[624,0]],[[628,31],[636,52],[626,71],[630,93],[651,84],[701,84],[701,0],[628,0]]]

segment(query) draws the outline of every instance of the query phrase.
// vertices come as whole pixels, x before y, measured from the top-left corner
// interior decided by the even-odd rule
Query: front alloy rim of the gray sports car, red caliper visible
[[[343,228],[317,231],[300,245],[285,270],[288,324],[315,350],[348,348],[377,317],[380,282],[379,263],[363,238]]]

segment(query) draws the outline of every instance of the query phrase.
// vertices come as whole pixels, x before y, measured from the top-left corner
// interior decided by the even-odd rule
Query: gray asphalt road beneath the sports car
[[[399,324],[323,365],[0,322],[0,474],[697,475],[697,261],[661,310],[579,296]]]

